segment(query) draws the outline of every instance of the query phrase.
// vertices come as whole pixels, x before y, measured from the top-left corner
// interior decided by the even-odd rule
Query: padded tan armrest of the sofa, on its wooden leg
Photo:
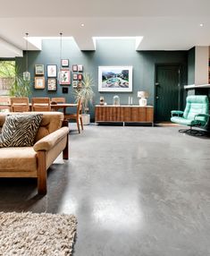
[[[52,132],[46,137],[42,138],[41,140],[37,141],[33,149],[38,152],[40,150],[48,151],[50,149],[53,149],[54,146],[69,133],[69,128],[68,127],[62,127],[55,132]]]

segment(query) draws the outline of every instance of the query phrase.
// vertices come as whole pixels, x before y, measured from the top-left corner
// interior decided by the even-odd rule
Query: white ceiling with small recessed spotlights
[[[95,49],[93,37],[144,37],[138,50],[210,45],[210,0],[0,0],[0,6],[0,57],[21,55],[26,32],[29,37],[63,32],[81,50]]]

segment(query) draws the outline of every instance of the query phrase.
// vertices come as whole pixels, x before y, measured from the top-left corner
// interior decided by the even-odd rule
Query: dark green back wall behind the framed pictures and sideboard
[[[187,51],[136,51],[135,41],[126,40],[101,40],[97,43],[96,51],[80,51],[73,40],[63,38],[63,59],[69,59],[70,65],[83,64],[84,72],[91,73],[95,80],[94,104],[99,104],[100,96],[105,97],[107,104],[113,103],[116,93],[97,91],[97,70],[99,65],[132,65],[133,66],[133,91],[130,93],[117,93],[121,104],[128,104],[129,97],[133,104],[139,104],[138,90],[147,90],[150,94],[148,105],[154,105],[155,64],[181,64],[181,84],[188,83],[188,52]],[[17,58],[24,69],[24,58]],[[29,72],[34,77],[35,64],[57,64],[60,67],[60,40],[44,40],[42,51],[29,52]],[[68,102],[74,101],[71,86],[69,93],[62,93],[61,85],[56,92],[45,90],[32,90],[33,97],[66,97]],[[90,108],[91,117],[94,117],[94,107]]]

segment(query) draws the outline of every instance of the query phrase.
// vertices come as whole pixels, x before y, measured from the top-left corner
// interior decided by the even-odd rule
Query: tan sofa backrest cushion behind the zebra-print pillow
[[[21,114],[38,114],[38,112],[23,112]],[[43,114],[41,124],[39,124],[38,132],[35,137],[35,141],[37,142],[46,135],[48,135],[51,132],[55,132],[57,129],[62,127],[64,115],[61,112],[39,112]],[[10,113],[11,115],[17,114],[17,113]],[[3,126],[5,121],[5,116],[8,115],[8,113],[0,113],[0,127]]]

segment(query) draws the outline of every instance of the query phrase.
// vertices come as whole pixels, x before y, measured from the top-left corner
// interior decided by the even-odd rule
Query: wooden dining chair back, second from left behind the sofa
[[[29,98],[11,98],[11,111],[12,112],[28,112],[29,111]]]

